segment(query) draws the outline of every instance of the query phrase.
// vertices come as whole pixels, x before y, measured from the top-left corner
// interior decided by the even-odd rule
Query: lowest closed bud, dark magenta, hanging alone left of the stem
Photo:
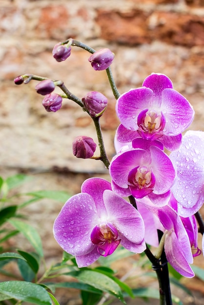
[[[96,151],[96,146],[91,137],[85,135],[77,136],[72,144],[73,154],[77,158],[91,158]]]

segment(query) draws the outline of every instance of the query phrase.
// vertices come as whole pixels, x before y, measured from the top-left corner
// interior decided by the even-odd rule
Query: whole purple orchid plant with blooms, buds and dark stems
[[[91,54],[87,60],[95,70],[106,70],[116,98],[121,124],[112,160],[106,154],[100,126],[108,107],[102,93],[88,92],[79,98],[61,80],[30,74],[15,78],[18,85],[40,81],[36,91],[45,95],[42,105],[48,112],[59,111],[63,100],[69,99],[90,115],[100,156],[94,155],[97,144],[85,135],[73,141],[73,153],[101,160],[110,174],[110,182],[101,177],[85,180],[81,193],[66,201],[54,222],[54,237],[67,255],[75,257],[79,268],[113,255],[119,245],[145,253],[157,273],[160,305],[171,305],[169,264],[192,278],[193,257],[204,253],[204,239],[202,250],[198,246],[198,232],[204,234],[199,213],[204,203],[204,132],[182,135],[193,121],[194,110],[167,76],[152,73],[140,88],[120,95],[110,69],[114,54],[107,48],[95,51],[70,38],[54,47],[54,58],[66,60],[74,46]],[[54,93],[56,86],[61,94]]]

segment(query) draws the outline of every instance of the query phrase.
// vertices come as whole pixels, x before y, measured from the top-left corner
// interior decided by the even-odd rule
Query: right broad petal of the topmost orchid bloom
[[[184,132],[195,114],[187,99],[174,89],[163,90],[161,110],[166,120],[163,133],[171,136]]]

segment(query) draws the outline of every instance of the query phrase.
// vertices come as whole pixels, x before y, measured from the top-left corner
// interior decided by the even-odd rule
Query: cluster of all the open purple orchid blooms
[[[84,99],[87,108],[93,104],[88,95]],[[119,96],[116,112],[121,124],[109,166],[111,183],[86,180],[82,193],[57,217],[55,238],[85,267],[119,244],[135,253],[144,251],[144,241],[158,247],[161,230],[167,261],[193,277],[189,264],[201,252],[194,214],[204,201],[204,134],[182,136],[193,108],[167,76],[151,74],[141,88]],[[138,210],[122,198],[128,196]]]

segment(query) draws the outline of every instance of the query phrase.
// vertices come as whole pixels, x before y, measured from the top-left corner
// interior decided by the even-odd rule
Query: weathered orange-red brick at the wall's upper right
[[[108,41],[127,45],[161,40],[188,47],[204,45],[204,19],[192,14],[141,10],[121,12],[98,10],[96,22],[101,36]]]

